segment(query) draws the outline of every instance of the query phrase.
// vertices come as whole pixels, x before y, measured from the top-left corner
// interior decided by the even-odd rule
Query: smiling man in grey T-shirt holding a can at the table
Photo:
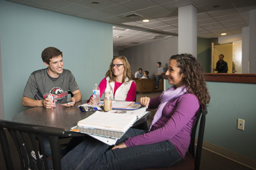
[[[63,104],[64,106],[74,106],[81,101],[82,94],[73,74],[68,69],[63,69],[62,57],[62,52],[55,47],[44,49],[42,60],[47,68],[34,71],[29,76],[23,92],[23,106],[52,108],[54,103],[46,97],[49,93],[54,94],[57,103],[67,103],[68,90],[73,94],[70,102],[74,103]]]

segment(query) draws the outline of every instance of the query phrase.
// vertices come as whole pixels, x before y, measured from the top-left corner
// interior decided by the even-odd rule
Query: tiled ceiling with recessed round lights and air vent
[[[198,9],[197,36],[241,34],[256,0],[8,0],[44,10],[113,24],[114,50],[177,36],[178,8]],[[99,3],[99,4],[97,4]],[[144,23],[141,20],[149,19]]]

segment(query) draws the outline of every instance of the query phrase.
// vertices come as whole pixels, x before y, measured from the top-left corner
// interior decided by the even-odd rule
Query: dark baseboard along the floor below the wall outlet
[[[244,157],[243,155],[232,152],[225,148],[221,148],[220,146],[213,145],[212,143],[208,143],[206,141],[204,141],[204,143],[203,143],[203,148],[205,150],[209,150],[210,152],[216,153],[218,155],[221,155],[222,157],[225,157],[227,159],[230,159],[239,164],[243,164],[244,166],[247,166],[247,167],[250,167],[250,168],[256,170],[256,160],[254,160],[254,159]]]

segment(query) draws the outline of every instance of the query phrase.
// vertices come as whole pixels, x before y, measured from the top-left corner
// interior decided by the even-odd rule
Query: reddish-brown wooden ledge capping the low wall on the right
[[[256,83],[256,74],[204,73],[205,81]]]

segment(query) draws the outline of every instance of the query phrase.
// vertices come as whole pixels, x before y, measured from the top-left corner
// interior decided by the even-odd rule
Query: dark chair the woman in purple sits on
[[[202,153],[202,146],[204,141],[204,128],[205,128],[205,118],[207,115],[207,108],[204,106],[204,109],[200,107],[200,115],[196,120],[196,123],[191,132],[191,141],[189,145],[188,152],[180,164],[177,164],[172,167],[162,167],[162,168],[153,168],[153,169],[144,169],[144,170],[199,170],[200,169],[200,160]],[[196,143],[196,152],[195,152],[195,138],[196,138],[196,128],[199,124],[198,138]]]

